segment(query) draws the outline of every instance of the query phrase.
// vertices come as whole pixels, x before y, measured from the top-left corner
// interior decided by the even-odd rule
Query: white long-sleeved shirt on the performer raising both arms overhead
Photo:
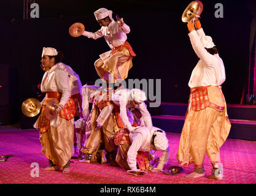
[[[218,54],[211,55],[201,43],[201,36],[205,36],[203,29],[188,34],[190,42],[200,58],[188,82],[190,88],[199,86],[219,86],[225,81],[225,67]]]

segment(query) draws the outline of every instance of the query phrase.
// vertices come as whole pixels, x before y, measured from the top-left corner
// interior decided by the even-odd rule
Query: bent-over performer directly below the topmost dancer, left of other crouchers
[[[113,91],[99,88],[99,86],[85,85],[81,91],[83,116],[87,119],[86,132],[88,135],[81,149],[84,159],[79,160],[83,163],[98,162],[101,157],[101,163],[104,164],[107,161],[105,149],[111,160],[114,160],[115,157],[114,134],[120,128],[117,126],[112,113],[113,106],[109,101],[109,96]],[[89,103],[93,103],[90,115]]]

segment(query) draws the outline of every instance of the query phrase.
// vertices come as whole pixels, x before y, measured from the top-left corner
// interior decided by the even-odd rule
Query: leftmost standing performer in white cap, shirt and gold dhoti
[[[63,58],[63,53],[55,48],[43,48],[42,65],[48,69],[42,78],[41,91],[46,92],[42,100],[41,115],[34,127],[40,130],[42,153],[49,160],[46,171],[69,173],[72,150],[74,148],[74,115],[76,105],[71,99],[68,74],[56,64]],[[57,99],[55,119],[48,120],[45,116],[45,105],[52,99]]]

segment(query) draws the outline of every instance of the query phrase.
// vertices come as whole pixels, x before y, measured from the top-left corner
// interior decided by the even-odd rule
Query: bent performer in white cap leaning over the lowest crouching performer
[[[111,99],[114,103],[117,122],[122,127],[122,130],[115,133],[114,142],[118,146],[115,161],[120,167],[130,170],[126,160],[127,152],[131,145],[130,132],[134,132],[141,126],[152,127],[152,119],[144,103],[146,100],[145,92],[140,89],[120,89],[112,94]],[[150,165],[149,158],[148,152],[139,151],[137,159],[141,170],[147,170]]]

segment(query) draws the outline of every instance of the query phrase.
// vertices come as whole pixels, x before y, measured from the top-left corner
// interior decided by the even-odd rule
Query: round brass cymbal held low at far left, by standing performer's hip
[[[34,117],[40,113],[42,106],[39,100],[34,98],[26,99],[21,105],[21,111],[25,116]]]

